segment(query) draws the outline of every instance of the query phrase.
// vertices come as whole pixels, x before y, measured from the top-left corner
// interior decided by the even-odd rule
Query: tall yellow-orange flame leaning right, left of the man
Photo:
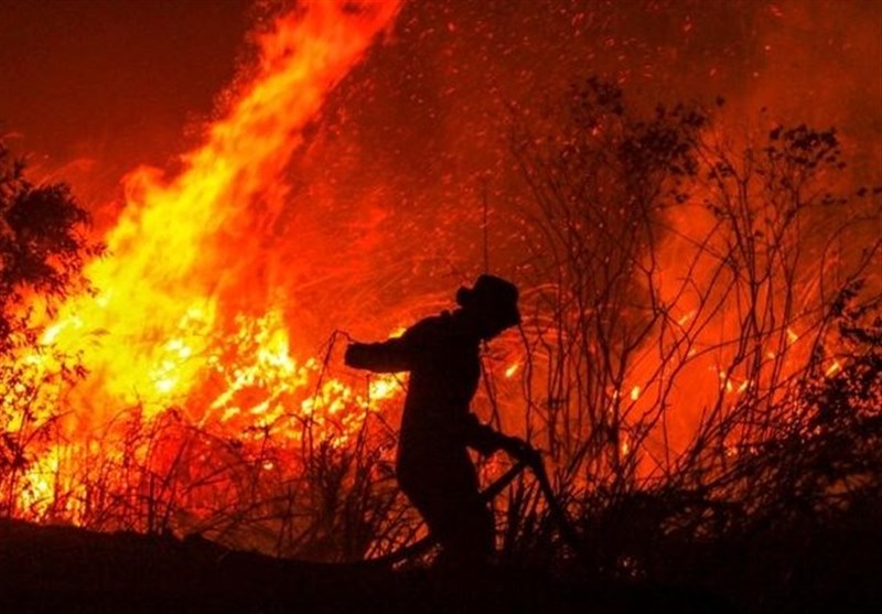
[[[183,409],[189,424],[211,422],[245,443],[272,429],[287,441],[309,431],[337,445],[378,397],[394,394],[394,380],[377,379],[358,395],[323,378],[319,359],[295,357],[284,297],[247,263],[261,260],[262,247],[249,217],[283,202],[282,173],[304,127],[399,8],[397,0],[320,0],[277,18],[259,35],[252,79],[204,144],[183,157],[181,171],[140,168],[127,176],[108,255],[86,268],[95,294],[68,300],[45,327],[44,349],[20,362],[47,397],[39,411],[52,416],[64,405],[74,412],[65,413],[65,442],[31,459],[17,486],[17,514],[79,521],[88,507],[84,484],[107,478],[90,460],[163,465],[180,454],[158,456],[154,443],[127,448],[111,428],[126,407],[144,424]],[[40,381],[61,368],[54,359],[72,355],[88,375],[62,400],[67,392]],[[125,481],[118,473],[110,478]]]

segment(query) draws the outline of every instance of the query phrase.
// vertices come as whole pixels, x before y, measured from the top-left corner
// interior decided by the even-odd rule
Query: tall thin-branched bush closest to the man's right
[[[635,353],[657,334],[653,256],[665,212],[688,197],[708,118],[685,105],[642,118],[620,87],[598,78],[549,115],[537,128],[515,110],[510,136],[531,200],[527,245],[539,291],[529,352],[546,374],[545,398],[528,403],[547,416],[540,444],[567,459],[567,471],[627,482],[636,457],[622,454],[621,392]]]

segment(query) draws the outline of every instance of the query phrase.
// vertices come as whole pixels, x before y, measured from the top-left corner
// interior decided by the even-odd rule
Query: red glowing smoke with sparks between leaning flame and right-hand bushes
[[[450,304],[481,271],[486,203],[491,267],[517,280],[525,186],[509,108],[541,116],[592,75],[643,110],[721,96],[718,121],[733,133],[835,125],[856,171],[878,181],[879,12],[835,2],[410,2],[392,44],[332,96],[290,165],[290,206],[261,223],[278,234],[270,259],[312,263],[303,278],[273,279],[341,326],[379,334]]]

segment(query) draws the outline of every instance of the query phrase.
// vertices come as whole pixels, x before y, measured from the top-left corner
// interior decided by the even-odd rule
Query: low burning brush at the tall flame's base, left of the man
[[[372,416],[398,402],[392,375],[347,384],[315,358],[298,364],[276,312],[237,322],[236,334],[211,344],[204,380],[181,405],[122,409],[69,439],[41,418],[49,442],[17,477],[13,514],[142,530],[158,506],[211,517],[243,499],[244,483],[293,481],[303,446],[351,448]],[[166,345],[186,354],[180,340]],[[168,367],[159,387],[173,378]]]

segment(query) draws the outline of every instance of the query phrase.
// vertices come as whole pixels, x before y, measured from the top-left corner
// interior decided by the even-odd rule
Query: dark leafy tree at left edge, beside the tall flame
[[[63,411],[41,392],[84,375],[76,357],[43,347],[40,334],[58,301],[88,290],[85,258],[101,251],[84,234],[89,215],[69,186],[35,185],[25,168],[0,140],[0,514],[14,513],[20,495],[39,498],[21,476],[57,437]]]

